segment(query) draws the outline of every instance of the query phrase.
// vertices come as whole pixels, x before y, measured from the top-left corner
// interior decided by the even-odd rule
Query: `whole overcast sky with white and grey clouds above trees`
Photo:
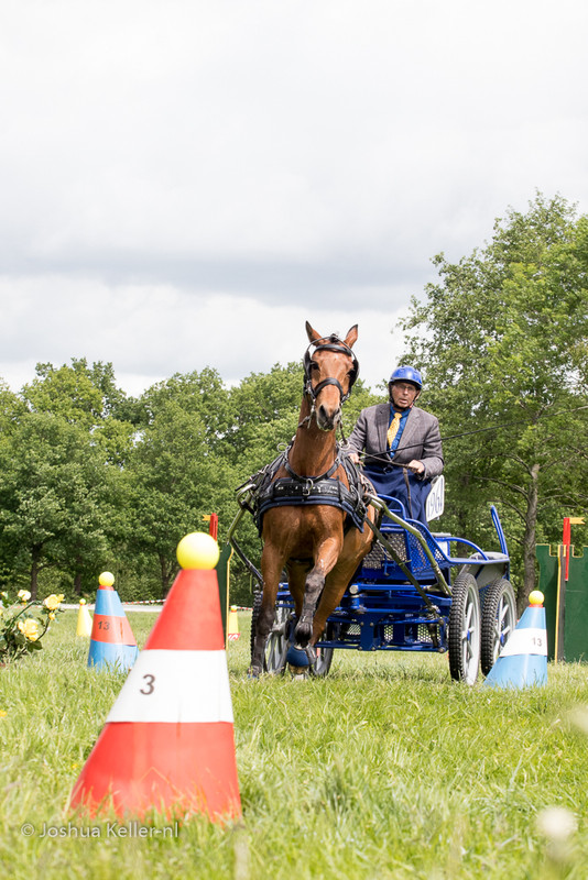
[[[359,323],[538,189],[588,212],[581,0],[0,0],[0,376],[138,394]]]

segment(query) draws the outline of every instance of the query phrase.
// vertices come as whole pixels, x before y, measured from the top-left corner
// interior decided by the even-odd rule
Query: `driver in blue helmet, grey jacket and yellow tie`
[[[431,481],[443,471],[439,422],[415,406],[423,380],[413,366],[399,366],[388,384],[389,403],[359,414],[349,437],[349,458],[359,464],[378,495],[390,495],[404,505],[407,516],[426,522],[425,504]]]

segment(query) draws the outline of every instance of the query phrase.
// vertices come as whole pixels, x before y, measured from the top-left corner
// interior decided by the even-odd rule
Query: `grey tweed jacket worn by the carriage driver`
[[[359,414],[356,427],[349,436],[351,452],[366,451],[366,464],[372,468],[385,468],[382,457],[386,455],[386,433],[390,421],[390,404],[377,404],[367,407]],[[371,455],[380,458],[374,459]],[[422,480],[431,480],[443,471],[443,449],[439,422],[429,413],[413,406],[409,413],[399,447],[392,461],[396,464],[409,464],[413,459],[422,461],[425,471]]]

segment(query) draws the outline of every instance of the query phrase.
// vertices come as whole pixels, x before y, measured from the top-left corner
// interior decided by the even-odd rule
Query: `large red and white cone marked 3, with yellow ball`
[[[190,552],[72,793],[91,815],[241,815],[218,582],[218,546]],[[202,549],[202,552],[200,552]],[[185,551],[185,552],[184,552]],[[216,553],[216,558],[215,558]],[[211,565],[209,564],[211,562]],[[197,568],[199,566],[199,568]]]

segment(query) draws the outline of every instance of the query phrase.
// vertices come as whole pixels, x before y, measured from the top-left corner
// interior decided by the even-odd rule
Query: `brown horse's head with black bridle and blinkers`
[[[357,323],[345,340],[335,333],[322,337],[306,321],[311,344],[304,355],[304,392],[313,400],[316,424],[333,431],[341,420],[341,405],[351,394],[359,364],[351,351],[357,340]]]

